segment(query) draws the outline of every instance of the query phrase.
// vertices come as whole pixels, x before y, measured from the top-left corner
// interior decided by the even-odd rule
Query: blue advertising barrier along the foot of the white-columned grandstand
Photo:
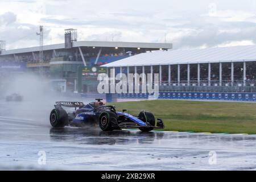
[[[118,98],[147,99],[148,93],[122,93]],[[159,92],[158,99],[187,99],[187,100],[228,100],[228,101],[256,101],[256,93],[234,92]]]

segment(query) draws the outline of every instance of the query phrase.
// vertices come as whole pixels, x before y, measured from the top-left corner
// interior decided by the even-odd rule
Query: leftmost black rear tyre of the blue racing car
[[[68,124],[68,114],[65,110],[53,109],[49,121],[52,127],[64,127]]]

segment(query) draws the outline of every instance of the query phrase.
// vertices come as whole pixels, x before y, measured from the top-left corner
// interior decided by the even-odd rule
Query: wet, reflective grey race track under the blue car
[[[53,104],[0,101],[1,169],[256,168],[256,135],[53,129],[48,121]],[[46,154],[46,164],[39,154]]]

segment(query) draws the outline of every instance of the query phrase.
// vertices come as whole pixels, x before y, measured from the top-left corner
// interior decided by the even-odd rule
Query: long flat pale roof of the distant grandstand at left
[[[79,41],[74,42],[73,47],[123,47],[123,48],[163,48],[171,49],[172,44],[167,43],[141,43],[141,42],[101,42],[101,41]],[[52,44],[43,46],[44,51],[53,50],[53,49],[64,49],[65,44]],[[39,47],[28,47],[20,49],[11,49],[2,51],[1,55],[10,55],[14,53],[26,53],[26,52],[37,52]],[[0,55],[0,56],[1,56]]]

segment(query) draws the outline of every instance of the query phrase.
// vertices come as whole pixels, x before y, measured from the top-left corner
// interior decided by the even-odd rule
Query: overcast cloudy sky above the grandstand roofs
[[[256,43],[253,0],[0,0],[0,40],[6,48],[64,42],[64,29],[78,40],[173,43],[204,48]]]

